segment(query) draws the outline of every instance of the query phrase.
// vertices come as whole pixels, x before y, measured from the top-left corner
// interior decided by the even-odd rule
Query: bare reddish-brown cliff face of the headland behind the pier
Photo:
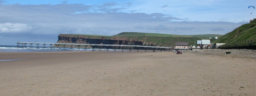
[[[122,40],[121,40],[122,39]],[[57,43],[78,43],[78,44],[117,44],[117,45],[146,45],[155,46],[152,43],[142,41],[129,40],[127,38],[113,37],[106,39],[105,37],[90,38],[85,36],[65,36],[59,35]]]

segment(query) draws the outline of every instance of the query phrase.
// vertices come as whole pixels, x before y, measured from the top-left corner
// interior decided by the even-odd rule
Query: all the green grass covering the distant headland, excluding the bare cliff
[[[175,42],[188,42],[189,45],[194,45],[195,41],[201,39],[209,39],[209,37],[220,37],[222,35],[171,35],[171,34],[157,34],[157,33],[138,33],[138,32],[123,32],[114,36],[101,36],[101,35],[79,35],[79,34],[60,34],[69,37],[85,37],[101,39],[114,39],[114,40],[128,40],[128,41],[142,41],[145,43],[152,43],[155,46],[168,46],[174,47]],[[211,39],[211,41],[214,39]]]

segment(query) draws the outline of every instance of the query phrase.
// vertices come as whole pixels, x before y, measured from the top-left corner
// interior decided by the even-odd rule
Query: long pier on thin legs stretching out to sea
[[[27,44],[29,44],[29,48],[32,49],[33,48],[33,44],[36,44],[36,48],[39,48],[39,44],[43,45],[43,49],[46,49],[46,45],[49,45],[49,48],[52,49],[53,45],[56,45],[57,49],[59,49],[59,46],[62,45],[64,49],[66,49],[66,46],[69,45],[70,49],[73,49],[73,45],[76,45],[78,47],[78,49],[80,49],[80,46],[91,46],[92,47],[92,51],[94,51],[94,47],[95,46],[106,46],[107,47],[107,51],[109,50],[109,46],[113,46],[114,47],[114,51],[116,51],[116,47],[122,47],[122,51],[123,51],[123,47],[128,47],[130,52],[131,52],[131,47],[137,47],[137,52],[139,51],[139,47],[141,48],[145,48],[145,50],[147,48],[153,48],[153,52],[155,51],[155,48],[161,48],[161,52],[162,49],[172,49],[172,47],[161,47],[161,46],[144,46],[144,45],[114,45],[114,44],[77,44],[77,43],[42,43],[42,42],[17,42],[17,48],[27,48]],[[85,47],[85,50],[87,48]],[[101,47],[100,50],[101,51]]]

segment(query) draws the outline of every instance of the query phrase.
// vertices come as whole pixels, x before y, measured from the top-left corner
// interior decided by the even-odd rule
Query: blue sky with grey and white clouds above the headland
[[[0,45],[59,34],[220,34],[256,18],[255,0],[0,0]]]

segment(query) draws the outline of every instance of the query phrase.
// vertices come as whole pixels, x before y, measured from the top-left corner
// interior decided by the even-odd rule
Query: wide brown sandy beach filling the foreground
[[[255,96],[256,59],[183,52],[0,53],[1,96]]]

